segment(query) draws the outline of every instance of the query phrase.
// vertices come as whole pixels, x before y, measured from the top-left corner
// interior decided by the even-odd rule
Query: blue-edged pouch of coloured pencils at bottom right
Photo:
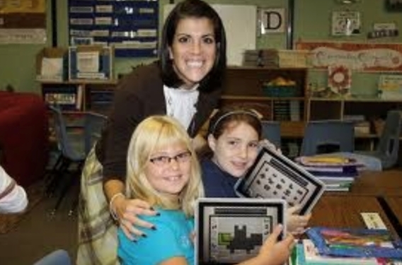
[[[388,230],[314,227],[306,230],[321,255],[402,259]]]

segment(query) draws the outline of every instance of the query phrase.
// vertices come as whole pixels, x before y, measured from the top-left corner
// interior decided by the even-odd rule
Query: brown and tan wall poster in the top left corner
[[[44,44],[46,0],[0,0],[0,45]]]

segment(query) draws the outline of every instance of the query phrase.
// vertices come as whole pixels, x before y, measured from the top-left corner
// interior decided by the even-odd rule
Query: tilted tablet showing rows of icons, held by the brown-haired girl
[[[255,163],[234,187],[246,198],[278,198],[289,206],[300,205],[299,214],[309,213],[325,190],[325,184],[276,151],[262,148]]]

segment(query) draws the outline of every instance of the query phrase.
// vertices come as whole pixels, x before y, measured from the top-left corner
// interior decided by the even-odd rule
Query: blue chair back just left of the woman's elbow
[[[87,155],[96,141],[101,138],[101,131],[103,126],[105,126],[106,120],[107,117],[105,115],[95,112],[86,112],[84,121],[84,145],[85,153]]]

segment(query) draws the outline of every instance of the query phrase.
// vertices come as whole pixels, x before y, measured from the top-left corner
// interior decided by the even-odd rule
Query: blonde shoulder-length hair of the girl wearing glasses
[[[190,179],[180,192],[180,203],[173,204],[149,183],[144,173],[151,154],[173,144],[183,144],[191,153]],[[203,196],[200,164],[183,126],[168,116],[151,116],[138,124],[127,153],[126,195],[148,201],[151,206],[184,211],[186,216],[194,215],[195,200]]]

